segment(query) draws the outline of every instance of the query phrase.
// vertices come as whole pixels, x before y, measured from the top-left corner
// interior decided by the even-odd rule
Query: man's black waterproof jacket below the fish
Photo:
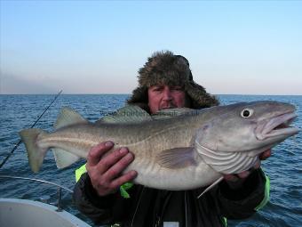
[[[202,198],[204,190],[163,191],[134,185],[124,199],[119,192],[99,197],[88,174],[76,183],[76,207],[94,223],[115,226],[219,227],[227,219],[244,219],[255,213],[265,197],[266,177],[261,169],[254,171],[236,190],[222,181]]]

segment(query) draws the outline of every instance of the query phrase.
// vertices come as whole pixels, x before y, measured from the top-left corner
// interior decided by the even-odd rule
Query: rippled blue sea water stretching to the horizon
[[[52,130],[60,109],[69,106],[76,109],[91,122],[115,109],[123,107],[128,95],[68,95],[62,94],[36,124],[36,127]],[[0,95],[0,163],[19,141],[18,132],[30,127],[53,95]],[[258,95],[219,95],[221,104],[240,101],[273,100],[294,104],[298,109],[298,118],[294,125],[302,128],[302,96],[258,96]],[[302,134],[288,139],[274,148],[271,158],[263,161],[262,167],[271,179],[271,199],[258,214],[241,222],[228,221],[228,226],[302,226]],[[39,174],[33,174],[28,166],[28,158],[23,144],[15,150],[12,157],[0,169],[0,174],[34,177],[56,182],[69,189],[75,184],[74,171],[84,162],[77,162],[66,169],[57,169],[52,152],[48,152]],[[0,178],[0,198],[48,199],[55,202],[57,189],[37,182],[7,180]],[[71,195],[64,195],[64,208],[90,223],[80,215],[71,203]]]

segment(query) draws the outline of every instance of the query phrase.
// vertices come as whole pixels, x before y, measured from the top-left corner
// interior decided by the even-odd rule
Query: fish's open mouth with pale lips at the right
[[[298,128],[290,126],[297,117],[298,115],[294,112],[288,112],[269,118],[264,124],[260,124],[260,126],[257,127],[257,139],[262,141],[275,136],[288,137],[293,134],[298,134]]]

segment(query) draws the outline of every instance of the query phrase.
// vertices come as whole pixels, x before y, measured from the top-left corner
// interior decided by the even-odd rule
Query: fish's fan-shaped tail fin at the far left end
[[[28,150],[29,166],[33,172],[37,173],[42,166],[45,154],[48,150],[48,148],[39,147],[37,138],[40,134],[46,134],[46,132],[42,129],[30,128],[20,131],[19,134]]]

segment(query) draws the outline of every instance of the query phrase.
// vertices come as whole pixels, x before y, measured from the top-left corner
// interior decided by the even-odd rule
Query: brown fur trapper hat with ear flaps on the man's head
[[[181,86],[191,99],[193,109],[211,107],[219,104],[215,96],[206,93],[197,85],[187,59],[174,55],[170,51],[156,52],[148,58],[143,68],[139,69],[139,86],[133,90],[129,104],[147,109],[147,89],[153,85]]]

